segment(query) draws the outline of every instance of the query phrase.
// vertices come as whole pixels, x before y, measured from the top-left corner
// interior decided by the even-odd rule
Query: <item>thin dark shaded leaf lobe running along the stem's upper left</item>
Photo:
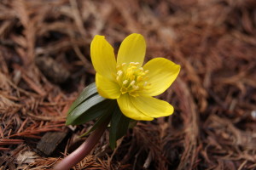
[[[111,102],[108,102],[108,108],[106,108],[104,111],[104,114],[102,114],[102,116],[100,116],[98,118],[98,120],[95,122],[95,124],[93,125],[93,127],[90,128],[89,131],[87,131],[86,133],[82,134],[80,137],[84,137],[87,134],[91,133],[92,131],[94,131],[96,129],[96,127],[98,127],[99,125],[102,124],[102,122],[106,122],[106,121],[110,121],[111,115],[113,113],[113,109],[116,107],[117,102],[115,100],[109,99],[111,100]]]

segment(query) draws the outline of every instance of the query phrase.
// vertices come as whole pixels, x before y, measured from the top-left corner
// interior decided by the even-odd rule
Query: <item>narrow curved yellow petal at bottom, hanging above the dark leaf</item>
[[[128,94],[121,95],[117,101],[122,113],[131,119],[137,121],[152,121],[154,119],[153,117],[146,116],[143,114],[143,112],[137,110],[137,108],[131,102],[131,96]]]

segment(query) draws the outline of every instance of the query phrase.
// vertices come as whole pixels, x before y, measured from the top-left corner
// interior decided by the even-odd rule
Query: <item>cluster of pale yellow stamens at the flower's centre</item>
[[[129,65],[123,63],[117,65],[116,80],[119,83],[122,94],[130,94],[133,97],[139,96],[138,92],[150,86],[148,80],[148,70],[144,71],[139,63],[131,62]]]

